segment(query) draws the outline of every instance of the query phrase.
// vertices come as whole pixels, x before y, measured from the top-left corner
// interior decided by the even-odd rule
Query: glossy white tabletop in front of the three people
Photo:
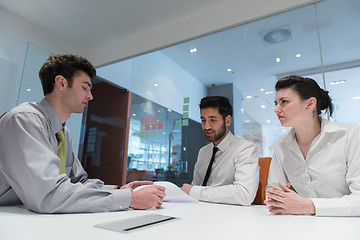
[[[149,213],[181,218],[130,233],[95,224]],[[62,232],[62,234],[61,234]],[[359,217],[270,215],[265,206],[165,203],[163,209],[91,214],[37,214],[22,206],[0,207],[0,240],[21,239],[360,239]]]

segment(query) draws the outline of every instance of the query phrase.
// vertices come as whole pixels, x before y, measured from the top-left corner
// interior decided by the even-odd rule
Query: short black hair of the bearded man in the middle
[[[218,108],[224,120],[228,115],[232,116],[233,113],[229,99],[223,96],[208,96],[201,99],[200,110],[209,107]]]

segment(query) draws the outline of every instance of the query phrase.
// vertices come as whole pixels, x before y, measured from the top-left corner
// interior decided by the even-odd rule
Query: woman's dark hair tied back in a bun
[[[287,76],[281,78],[275,85],[276,91],[284,88],[294,89],[303,100],[311,97],[316,98],[317,114],[320,115],[322,110],[326,110],[330,113],[330,116],[332,115],[334,107],[329,92],[320,88],[314,79],[295,75]]]

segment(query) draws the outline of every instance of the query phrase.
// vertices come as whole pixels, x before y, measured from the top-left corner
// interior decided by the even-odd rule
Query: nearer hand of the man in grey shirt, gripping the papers
[[[165,197],[165,187],[152,185],[131,193],[130,208],[148,209],[160,208]]]

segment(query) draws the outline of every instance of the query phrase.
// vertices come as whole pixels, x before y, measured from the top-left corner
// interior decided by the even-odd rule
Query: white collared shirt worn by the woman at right
[[[360,128],[321,119],[321,132],[304,159],[292,129],[271,161],[267,188],[290,183],[311,198],[317,216],[360,216]]]

